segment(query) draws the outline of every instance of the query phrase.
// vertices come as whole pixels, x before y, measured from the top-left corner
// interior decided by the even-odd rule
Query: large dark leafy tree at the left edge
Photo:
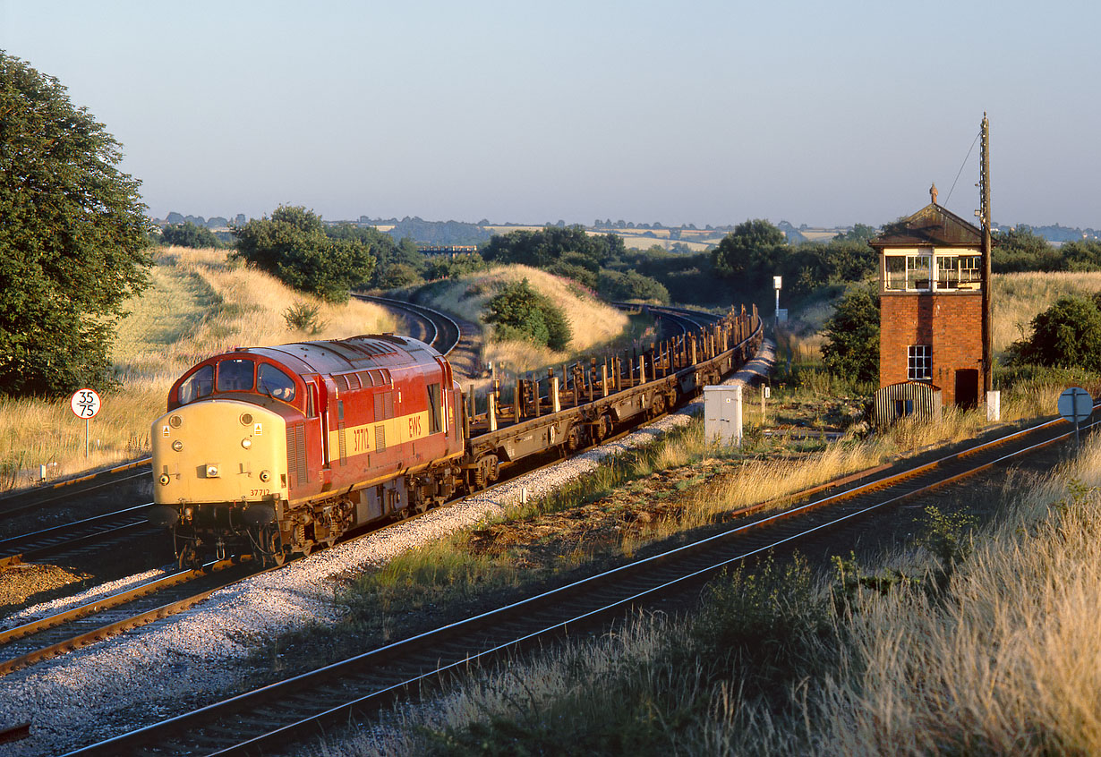
[[[151,229],[121,145],[57,79],[0,51],[0,393],[110,383]]]

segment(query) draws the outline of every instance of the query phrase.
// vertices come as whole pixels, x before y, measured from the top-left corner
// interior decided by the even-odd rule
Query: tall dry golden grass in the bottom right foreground
[[[913,592],[853,617],[846,674],[810,715],[819,753],[1101,754],[1099,485],[1097,440],[1046,480],[1007,481],[1016,513],[950,601]]]

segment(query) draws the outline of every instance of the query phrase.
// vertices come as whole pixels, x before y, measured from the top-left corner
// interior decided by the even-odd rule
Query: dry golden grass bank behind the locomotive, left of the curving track
[[[0,487],[25,485],[48,464],[51,479],[116,464],[149,450],[149,426],[164,412],[168,387],[199,360],[237,345],[279,344],[392,331],[388,312],[361,301],[329,305],[268,274],[227,260],[224,250],[168,248],[153,284],[129,304],[112,360],[121,387],[101,393],[85,459],[85,424],[68,401],[0,399]],[[283,311],[296,301],[320,308],[324,329],[292,331]]]

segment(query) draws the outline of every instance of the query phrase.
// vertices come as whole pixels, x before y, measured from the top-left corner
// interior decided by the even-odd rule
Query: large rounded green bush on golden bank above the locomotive
[[[280,206],[271,218],[233,228],[237,255],[283,283],[329,301],[348,299],[374,271],[371,243],[352,237],[333,239],[319,216],[301,206]]]

